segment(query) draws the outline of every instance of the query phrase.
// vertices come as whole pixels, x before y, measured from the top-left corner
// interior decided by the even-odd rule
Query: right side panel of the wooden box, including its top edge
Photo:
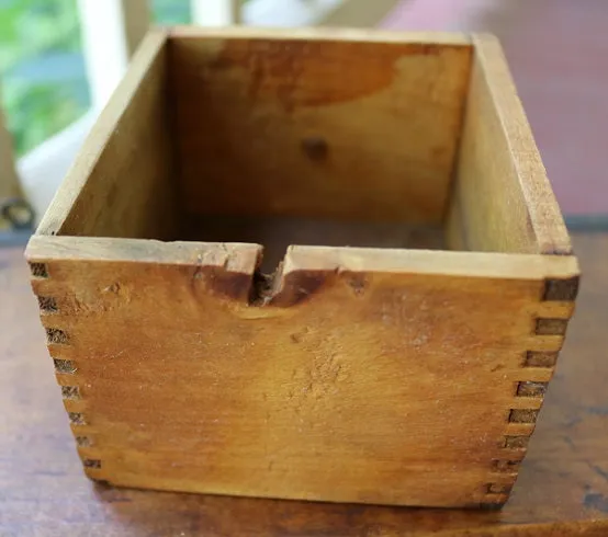
[[[453,249],[572,253],[570,238],[496,39],[476,36],[448,215]]]

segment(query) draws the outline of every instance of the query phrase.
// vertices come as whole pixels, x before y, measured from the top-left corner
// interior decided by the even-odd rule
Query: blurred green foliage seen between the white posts
[[[76,1],[0,0],[2,106],[20,156],[90,106]],[[190,22],[189,0],[150,5],[158,23]]]

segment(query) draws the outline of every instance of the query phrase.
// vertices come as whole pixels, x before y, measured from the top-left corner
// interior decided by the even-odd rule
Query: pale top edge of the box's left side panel
[[[93,128],[68,170],[50,205],[44,214],[36,235],[60,233],[82,187],[89,180],[114,129],[128,107],[134,94],[145,79],[150,65],[158,57],[167,42],[167,31],[155,28],[144,37],[132,58],[123,80],[114,90],[110,101],[99,115]]]

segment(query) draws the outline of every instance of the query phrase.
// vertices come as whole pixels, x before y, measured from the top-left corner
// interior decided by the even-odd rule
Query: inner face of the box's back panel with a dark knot
[[[470,45],[317,35],[171,37],[183,205],[439,222]]]

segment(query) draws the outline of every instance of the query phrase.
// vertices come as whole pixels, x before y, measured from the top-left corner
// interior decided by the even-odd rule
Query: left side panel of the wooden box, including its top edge
[[[38,233],[173,236],[177,188],[166,71],[166,33],[150,32],[85,141]]]

